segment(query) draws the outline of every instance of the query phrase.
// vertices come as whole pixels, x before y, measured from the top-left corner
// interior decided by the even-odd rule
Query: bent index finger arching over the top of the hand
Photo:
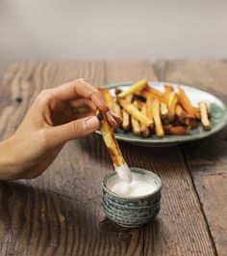
[[[91,100],[101,111],[110,110],[101,92],[84,79],[77,79],[53,89],[54,96],[63,101],[85,98]]]

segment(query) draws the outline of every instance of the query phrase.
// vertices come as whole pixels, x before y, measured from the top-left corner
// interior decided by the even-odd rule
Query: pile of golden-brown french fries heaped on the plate
[[[115,97],[107,89],[100,90],[110,108],[122,118],[120,128],[136,136],[183,135],[200,124],[206,130],[211,129],[211,111],[207,103],[201,100],[195,107],[185,91],[180,86],[178,89],[175,92],[166,84],[161,93],[148,86],[147,80],[140,80],[126,91],[115,89]]]

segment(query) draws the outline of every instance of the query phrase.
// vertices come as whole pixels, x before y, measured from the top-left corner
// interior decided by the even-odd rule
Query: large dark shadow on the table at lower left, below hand
[[[58,251],[92,255],[89,250],[98,243],[101,246],[101,241],[102,246],[107,240],[119,246],[130,244],[134,232],[113,226],[96,209],[90,202],[85,205],[53,191],[1,182],[0,251],[7,255],[55,255]]]

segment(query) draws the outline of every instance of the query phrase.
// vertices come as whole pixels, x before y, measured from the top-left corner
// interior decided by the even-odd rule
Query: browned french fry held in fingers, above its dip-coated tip
[[[108,124],[105,114],[97,111],[96,115],[100,120],[100,131],[114,165],[120,166],[124,164],[125,160],[115,139],[113,128]]]

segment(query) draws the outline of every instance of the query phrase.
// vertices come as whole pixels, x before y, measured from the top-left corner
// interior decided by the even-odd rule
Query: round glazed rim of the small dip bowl
[[[117,175],[117,173],[115,171],[113,172],[110,172],[108,173],[104,179],[103,179],[103,182],[102,182],[102,187],[103,187],[103,190],[105,190],[106,192],[108,192],[109,194],[113,195],[114,197],[116,198],[120,198],[120,199],[129,199],[129,200],[132,200],[132,201],[137,201],[139,199],[147,199],[149,198],[151,195],[155,195],[157,192],[159,192],[162,187],[163,187],[163,182],[161,180],[161,178],[155,174],[154,172],[152,171],[148,171],[146,169],[142,169],[142,168],[139,168],[139,167],[129,167],[129,169],[132,171],[132,172],[136,172],[137,170],[139,172],[143,172],[147,175],[150,175],[152,176],[157,182],[158,182],[158,187],[152,191],[151,193],[148,193],[148,194],[145,194],[145,195],[139,195],[139,196],[126,196],[126,195],[120,195],[120,194],[116,194],[114,193],[112,190],[110,190],[108,187],[107,187],[107,181],[108,179],[110,179],[112,176],[114,175]]]

